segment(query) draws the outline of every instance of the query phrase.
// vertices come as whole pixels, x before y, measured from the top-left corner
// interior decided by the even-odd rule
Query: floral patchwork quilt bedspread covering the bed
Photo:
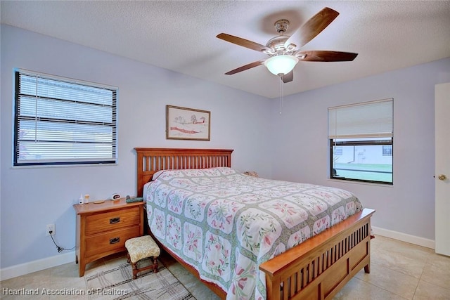
[[[163,171],[144,196],[153,235],[226,299],[266,299],[260,263],[362,209],[346,190],[226,167]]]

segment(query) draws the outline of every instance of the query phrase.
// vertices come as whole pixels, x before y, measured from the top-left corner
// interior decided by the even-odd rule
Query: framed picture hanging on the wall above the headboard
[[[166,105],[166,138],[168,140],[211,139],[211,112]]]

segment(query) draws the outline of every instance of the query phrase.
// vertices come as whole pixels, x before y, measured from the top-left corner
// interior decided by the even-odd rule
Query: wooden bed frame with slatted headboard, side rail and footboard
[[[155,172],[163,169],[203,169],[231,167],[233,150],[135,148],[137,153],[137,195]],[[370,272],[371,216],[364,209],[328,230],[311,237],[259,269],[266,274],[267,299],[332,299],[339,290],[364,268]],[[179,263],[199,278],[197,270],[160,244]],[[202,280],[225,299],[226,292]]]

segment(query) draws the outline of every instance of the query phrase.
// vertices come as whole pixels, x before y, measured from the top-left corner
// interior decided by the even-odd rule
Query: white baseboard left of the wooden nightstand
[[[75,261],[75,251],[59,254],[56,256],[30,261],[29,263],[21,263],[20,265],[11,266],[0,269],[0,280],[15,278],[25,274],[63,265],[64,263],[72,263]]]

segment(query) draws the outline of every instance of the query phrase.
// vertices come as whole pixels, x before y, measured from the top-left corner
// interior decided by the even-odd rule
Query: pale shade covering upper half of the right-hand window
[[[328,108],[328,138],[392,137],[393,100]]]

